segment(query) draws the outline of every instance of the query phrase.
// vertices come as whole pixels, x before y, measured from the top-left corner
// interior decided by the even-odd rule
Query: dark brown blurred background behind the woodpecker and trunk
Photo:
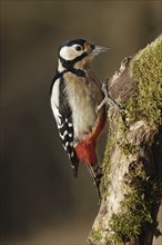
[[[73,178],[50,109],[57,49],[75,37],[111,47],[92,65],[104,80],[160,35],[161,1],[0,4],[1,243],[83,244],[98,195],[85,166]]]

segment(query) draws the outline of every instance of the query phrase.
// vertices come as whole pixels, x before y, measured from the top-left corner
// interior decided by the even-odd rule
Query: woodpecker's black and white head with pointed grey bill
[[[83,39],[65,41],[59,48],[59,71],[64,69],[84,69],[95,56],[107,51],[109,48],[91,45]]]

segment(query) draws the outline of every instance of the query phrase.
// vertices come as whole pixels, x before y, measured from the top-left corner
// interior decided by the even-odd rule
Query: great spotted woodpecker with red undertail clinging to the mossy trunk
[[[107,114],[105,105],[98,109],[104,94],[90,62],[107,50],[83,39],[65,41],[58,51],[58,69],[50,89],[51,108],[73,176],[78,176],[79,163],[85,164],[99,195],[102,171],[95,147]]]

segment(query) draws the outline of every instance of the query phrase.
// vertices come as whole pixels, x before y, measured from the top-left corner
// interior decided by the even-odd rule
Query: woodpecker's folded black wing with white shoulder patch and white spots
[[[59,76],[60,75],[60,76]],[[59,78],[58,78],[59,76]],[[55,79],[57,78],[57,79]],[[63,74],[57,74],[57,77],[52,80],[52,110],[58,125],[59,135],[62,141],[62,146],[68,154],[73,168],[73,175],[77,177],[79,159],[73,148],[73,122],[72,111],[65,94],[65,85]]]

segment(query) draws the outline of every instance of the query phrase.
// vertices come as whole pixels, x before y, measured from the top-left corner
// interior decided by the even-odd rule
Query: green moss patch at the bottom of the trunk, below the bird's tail
[[[130,237],[138,238],[146,224],[153,222],[151,205],[144,196],[144,179],[140,177],[134,179],[133,188],[121,203],[122,210],[112,215],[110,227],[113,233],[110,239],[113,243],[122,244],[129,241]]]

